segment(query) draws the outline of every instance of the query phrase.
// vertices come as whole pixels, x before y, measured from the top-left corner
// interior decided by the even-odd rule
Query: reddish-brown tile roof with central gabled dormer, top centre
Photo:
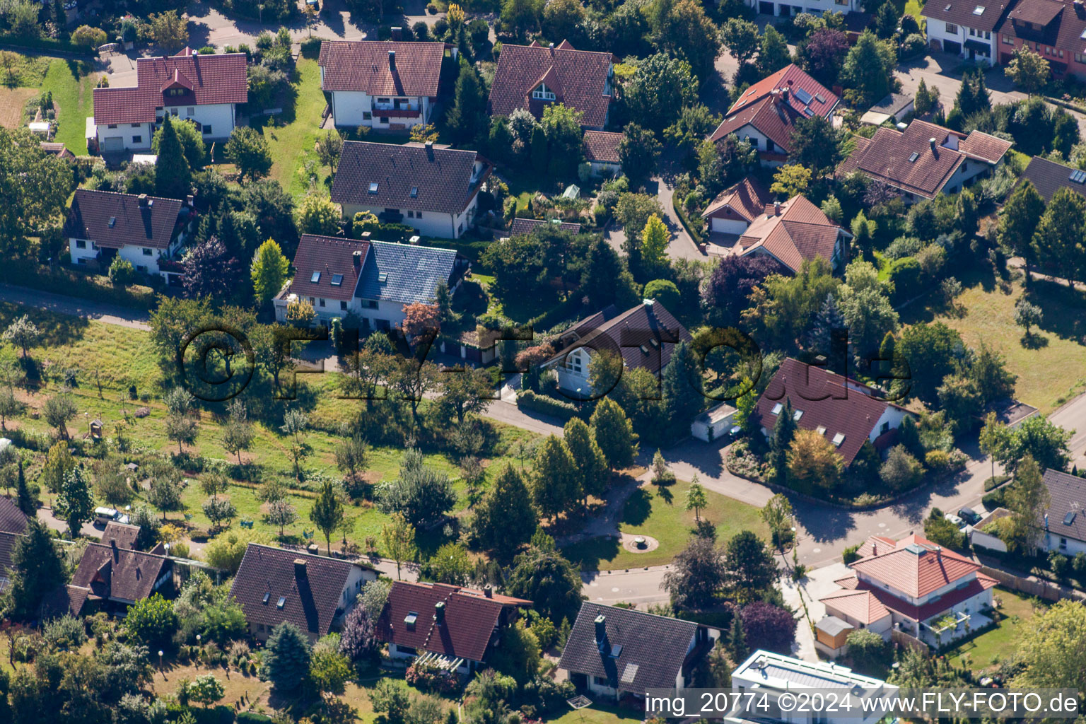
[[[573,50],[568,41],[557,48],[539,43],[502,46],[490,87],[489,112],[507,116],[517,109],[527,109],[536,118],[542,117],[546,101],[533,99],[532,91],[546,82],[557,96],[554,102],[584,114],[582,126],[603,128],[611,101],[610,66],[610,53]]]

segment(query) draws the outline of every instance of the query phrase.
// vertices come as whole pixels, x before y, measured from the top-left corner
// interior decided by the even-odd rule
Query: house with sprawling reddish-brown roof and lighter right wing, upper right
[[[837,166],[837,178],[859,172],[897,189],[906,202],[958,193],[1003,163],[1010,141],[913,120],[904,131],[880,127],[870,139],[855,136],[856,150]]]

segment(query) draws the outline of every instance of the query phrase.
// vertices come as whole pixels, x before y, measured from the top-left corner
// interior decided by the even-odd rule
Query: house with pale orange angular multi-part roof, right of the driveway
[[[702,218],[709,220],[709,242],[719,247],[716,253],[763,254],[793,274],[816,257],[833,269],[843,268],[845,246],[853,238],[806,196],[776,202],[749,178],[722,191]]]

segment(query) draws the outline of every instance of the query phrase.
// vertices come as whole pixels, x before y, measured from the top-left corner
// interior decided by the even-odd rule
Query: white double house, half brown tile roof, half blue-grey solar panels
[[[404,306],[432,303],[441,282],[455,293],[468,263],[452,249],[306,233],[298,242],[294,269],[273,300],[277,320],[286,321],[291,302],[307,300],[317,313],[314,325],[327,327],[353,312],[367,331],[397,327]]]

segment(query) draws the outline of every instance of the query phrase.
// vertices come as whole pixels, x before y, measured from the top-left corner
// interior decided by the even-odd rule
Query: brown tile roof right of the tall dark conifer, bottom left
[[[100,598],[138,601],[151,595],[155,582],[172,566],[165,556],[91,543],[72,576],[72,585],[90,588]]]

